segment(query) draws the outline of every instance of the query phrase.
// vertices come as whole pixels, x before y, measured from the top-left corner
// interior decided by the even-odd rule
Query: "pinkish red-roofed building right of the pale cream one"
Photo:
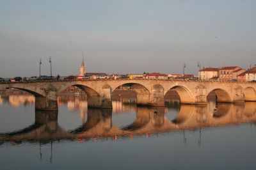
[[[239,66],[224,66],[219,70],[220,81],[237,79],[237,75],[240,75],[243,72],[245,72],[245,70]]]

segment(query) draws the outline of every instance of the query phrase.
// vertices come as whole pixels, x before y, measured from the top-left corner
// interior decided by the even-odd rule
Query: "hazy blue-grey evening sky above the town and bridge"
[[[256,64],[256,1],[0,1],[0,77]]]

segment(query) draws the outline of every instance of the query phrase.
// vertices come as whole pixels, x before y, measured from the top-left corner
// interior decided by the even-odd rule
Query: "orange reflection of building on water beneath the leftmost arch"
[[[9,103],[15,107],[25,104],[34,104],[35,97],[33,95],[10,95]]]

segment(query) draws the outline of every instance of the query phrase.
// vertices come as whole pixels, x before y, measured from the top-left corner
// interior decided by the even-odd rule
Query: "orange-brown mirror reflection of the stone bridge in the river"
[[[256,105],[218,104],[216,111],[205,105],[181,105],[174,120],[168,120],[164,107],[137,107],[136,120],[131,125],[116,127],[109,109],[88,109],[86,123],[66,131],[58,125],[58,112],[36,111],[35,123],[16,132],[0,134],[0,143],[12,141],[56,141],[90,139],[92,137],[133,136],[172,130],[236,125],[256,122]]]

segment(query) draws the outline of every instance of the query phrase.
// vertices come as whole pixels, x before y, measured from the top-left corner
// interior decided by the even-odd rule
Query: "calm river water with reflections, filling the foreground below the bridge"
[[[255,169],[256,104],[87,108],[61,96],[35,111],[29,95],[0,97],[0,169]]]

